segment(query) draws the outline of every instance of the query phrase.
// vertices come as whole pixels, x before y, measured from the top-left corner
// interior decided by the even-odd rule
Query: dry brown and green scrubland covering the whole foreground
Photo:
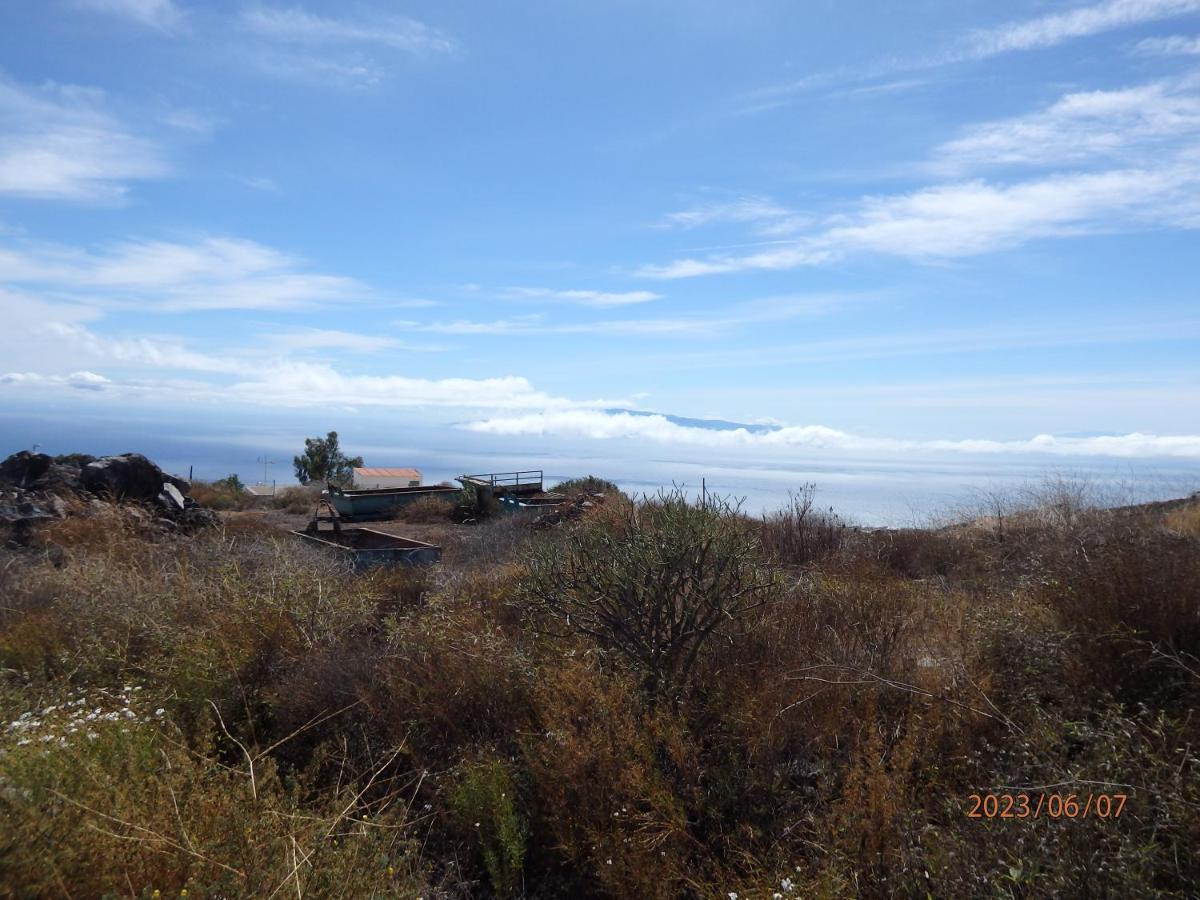
[[[53,522],[0,551],[0,892],[1194,896],[1196,521],[611,496],[361,575]],[[1018,790],[1128,802],[967,816]]]

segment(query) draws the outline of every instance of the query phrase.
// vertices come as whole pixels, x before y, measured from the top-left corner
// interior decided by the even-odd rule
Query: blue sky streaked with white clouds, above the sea
[[[0,7],[13,444],[1194,463],[1198,227],[1200,0]]]

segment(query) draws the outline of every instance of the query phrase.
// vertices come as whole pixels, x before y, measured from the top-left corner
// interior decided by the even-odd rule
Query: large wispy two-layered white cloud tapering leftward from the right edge
[[[1044,238],[1195,228],[1200,226],[1200,98],[1194,79],[1068,94],[1032,114],[973,126],[936,148],[919,168],[961,179],[1022,167],[1066,170],[868,196],[846,211],[793,228],[793,240],[754,252],[648,265],[640,274],[686,278],[782,270],[862,252],[952,259]],[[757,224],[751,229],[761,233]]]

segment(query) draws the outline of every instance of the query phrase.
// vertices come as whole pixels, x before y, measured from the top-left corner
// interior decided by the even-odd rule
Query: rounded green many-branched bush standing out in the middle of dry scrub
[[[548,622],[625,656],[653,696],[683,686],[703,643],[775,584],[736,508],[694,505],[674,491],[544,544],[526,590]]]

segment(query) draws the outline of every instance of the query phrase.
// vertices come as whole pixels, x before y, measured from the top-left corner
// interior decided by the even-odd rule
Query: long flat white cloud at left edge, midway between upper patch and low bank
[[[305,271],[295,257],[236,238],[124,241],[98,253],[0,247],[0,281],[161,312],[295,310],[372,295],[353,278]]]

